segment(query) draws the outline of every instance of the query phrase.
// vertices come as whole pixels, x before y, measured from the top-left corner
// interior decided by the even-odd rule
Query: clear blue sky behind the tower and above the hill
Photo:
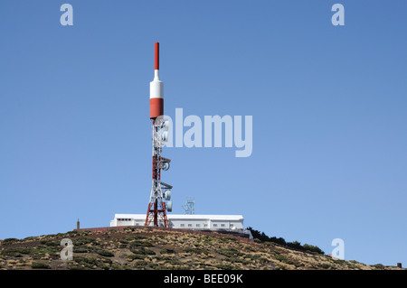
[[[73,26],[60,7],[73,6]],[[345,6],[345,26],[331,23]],[[10,1],[0,4],[0,238],[146,213],[148,83],[165,112],[253,117],[251,157],[166,148],[174,213],[345,259],[407,264],[405,1]]]

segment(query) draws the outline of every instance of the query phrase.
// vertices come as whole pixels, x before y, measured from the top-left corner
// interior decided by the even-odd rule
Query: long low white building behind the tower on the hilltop
[[[197,230],[243,230],[243,216],[241,215],[190,215],[168,214],[170,228]],[[144,226],[146,214],[115,214],[110,221],[110,227]]]

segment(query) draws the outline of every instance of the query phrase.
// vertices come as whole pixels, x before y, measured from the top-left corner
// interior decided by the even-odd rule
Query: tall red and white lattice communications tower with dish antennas
[[[171,212],[171,185],[161,181],[161,170],[168,170],[171,160],[161,157],[168,140],[168,121],[164,115],[164,83],[159,78],[159,43],[155,43],[154,79],[150,82],[150,119],[153,123],[153,183],[145,226],[169,228],[166,211]],[[164,191],[164,192],[163,192]],[[167,200],[165,202],[164,200]]]

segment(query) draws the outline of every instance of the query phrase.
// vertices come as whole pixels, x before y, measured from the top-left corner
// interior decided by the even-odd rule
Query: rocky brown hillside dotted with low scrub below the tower
[[[73,260],[61,259],[63,238],[70,238],[73,243]],[[315,252],[218,233],[156,228],[70,231],[24,239],[8,238],[0,244],[0,251],[0,269],[4,270],[398,269],[334,260]]]

